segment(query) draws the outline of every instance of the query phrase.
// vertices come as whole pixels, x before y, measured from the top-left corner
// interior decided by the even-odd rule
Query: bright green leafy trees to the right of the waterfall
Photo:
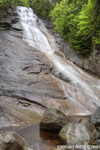
[[[100,44],[100,1],[62,0],[50,12],[56,32],[71,41],[75,51],[87,56],[93,40]]]

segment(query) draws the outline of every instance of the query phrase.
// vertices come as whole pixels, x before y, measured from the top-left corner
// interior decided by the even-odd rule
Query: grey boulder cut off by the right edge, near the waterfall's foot
[[[90,121],[95,126],[100,126],[100,106],[96,109],[95,113],[91,116]]]

